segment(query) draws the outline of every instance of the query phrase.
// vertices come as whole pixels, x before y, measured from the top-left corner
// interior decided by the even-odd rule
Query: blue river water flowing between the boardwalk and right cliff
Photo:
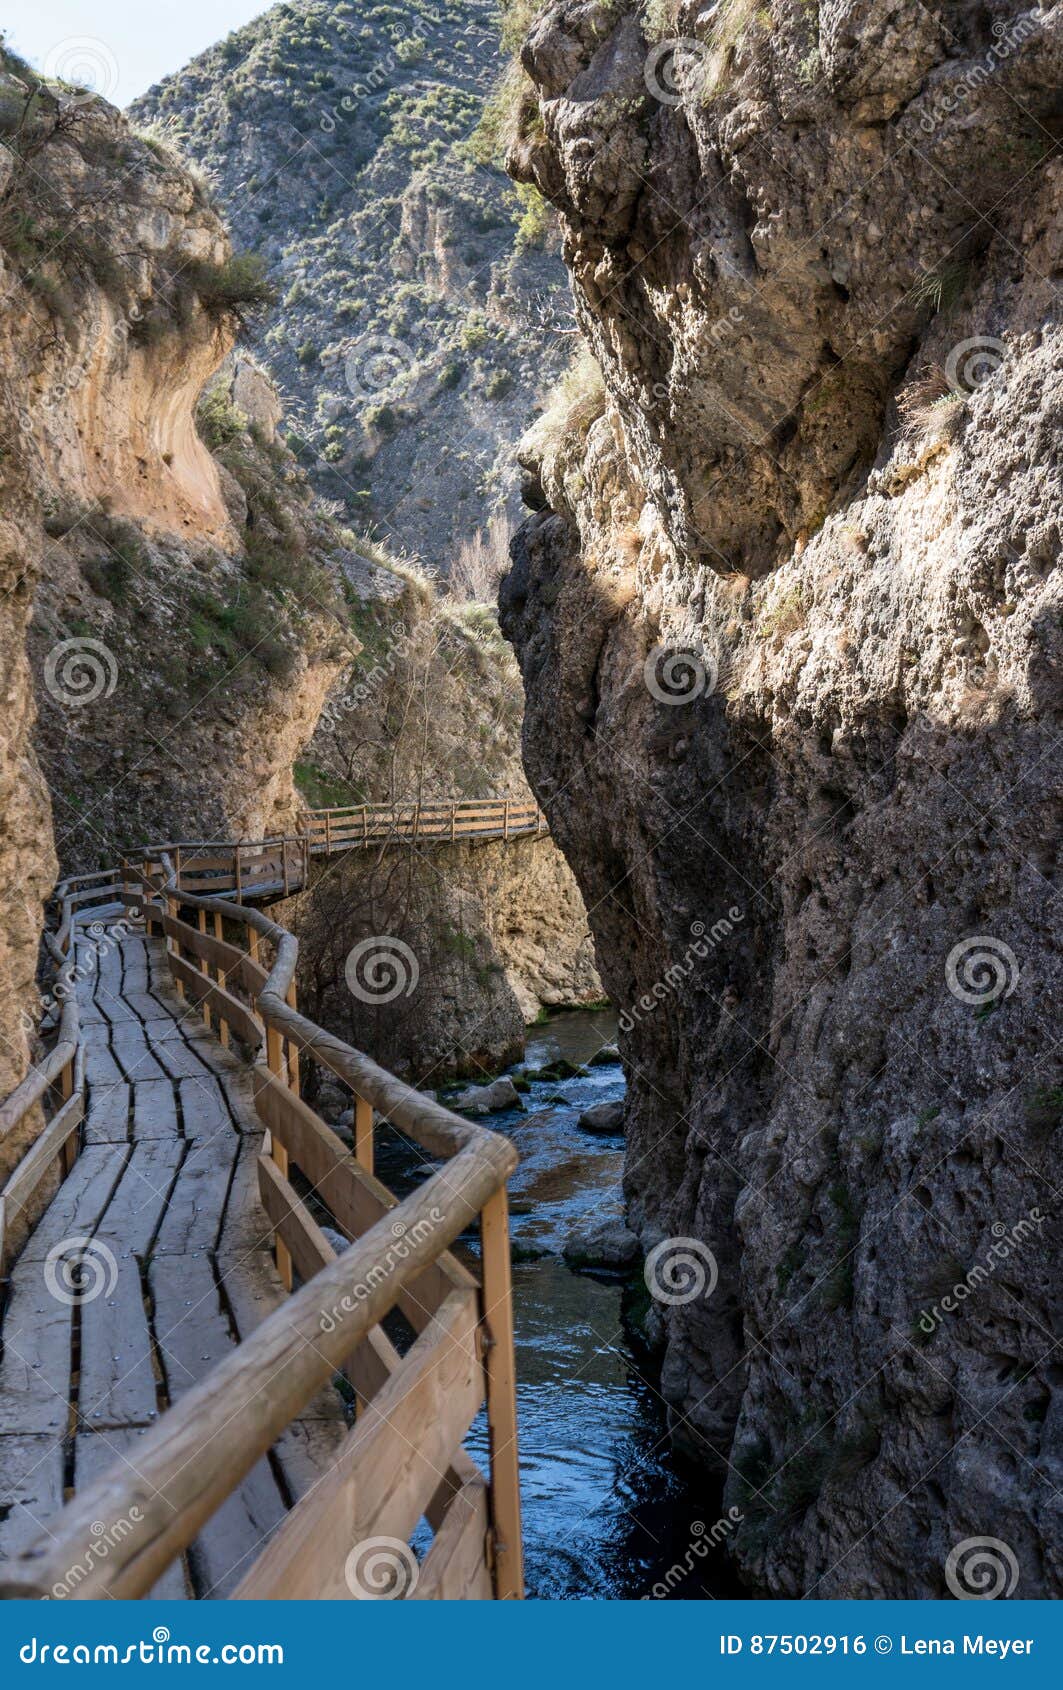
[[[524,1066],[583,1065],[615,1033],[610,1012],[559,1014],[529,1031]],[[669,1575],[671,1597],[740,1595],[720,1551],[703,1553],[718,1492],[668,1447],[652,1362],[624,1328],[622,1283],[573,1273],[561,1256],[573,1225],[617,1200],[622,1139],[576,1120],[619,1097],[620,1066],[595,1066],[586,1078],[532,1082],[522,1112],[487,1117],[521,1153],[510,1203],[527,1594],[632,1599]],[[417,1178],[401,1146],[380,1146],[379,1164],[395,1191]],[[458,1254],[472,1264],[473,1249],[463,1240]],[[487,1465],[482,1420],[466,1448]]]

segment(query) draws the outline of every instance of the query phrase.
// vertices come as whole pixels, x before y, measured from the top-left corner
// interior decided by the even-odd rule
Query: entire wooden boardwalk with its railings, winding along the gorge
[[[63,882],[52,1046],[0,1105],[0,1144],[32,1137],[0,1193],[2,1594],[522,1595],[515,1151],[301,1016],[255,904],[316,853],[541,831],[505,799],[358,806]],[[444,1163],[401,1203],[380,1129]]]

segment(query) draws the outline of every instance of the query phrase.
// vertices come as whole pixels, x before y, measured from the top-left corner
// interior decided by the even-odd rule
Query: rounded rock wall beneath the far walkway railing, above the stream
[[[308,1014],[422,1085],[485,1080],[541,1009],[595,1002],[586,913],[549,838],[352,850],[279,906]]]

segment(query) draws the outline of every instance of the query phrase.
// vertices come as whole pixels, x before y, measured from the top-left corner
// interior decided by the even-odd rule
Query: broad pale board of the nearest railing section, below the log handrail
[[[483,1401],[477,1298],[455,1291],[367,1404],[328,1479],[287,1516],[240,1600],[350,1600],[346,1556],[367,1538],[407,1540]]]

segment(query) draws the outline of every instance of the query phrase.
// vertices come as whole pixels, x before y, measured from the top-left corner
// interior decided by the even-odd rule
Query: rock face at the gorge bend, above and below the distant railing
[[[531,803],[521,676],[493,613],[456,605],[382,551],[375,558],[346,566],[362,652],[297,764],[306,801]],[[287,919],[303,945],[301,1002],[428,1083],[497,1073],[522,1053],[526,1022],[542,1009],[602,997],[586,911],[549,837],[355,848],[328,860]],[[355,948],[363,965],[352,973]]]

